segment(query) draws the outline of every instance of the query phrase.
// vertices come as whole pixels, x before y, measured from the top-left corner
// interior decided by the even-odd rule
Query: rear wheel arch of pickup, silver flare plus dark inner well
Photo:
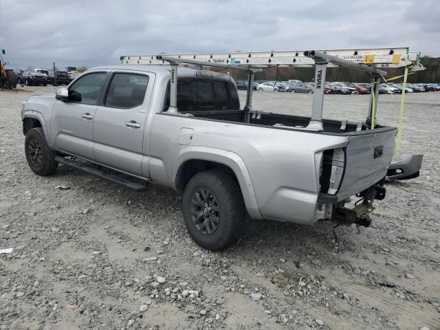
[[[192,176],[212,168],[228,173],[236,179],[248,213],[254,219],[261,219],[248,168],[243,159],[231,151],[197,146],[182,149],[173,171],[175,189],[183,191]]]

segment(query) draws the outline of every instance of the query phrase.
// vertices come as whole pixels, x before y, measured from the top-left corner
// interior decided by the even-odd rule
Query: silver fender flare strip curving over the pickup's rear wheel
[[[182,148],[177,155],[175,167],[173,168],[172,178],[174,186],[176,186],[176,178],[179,168],[181,168],[181,166],[188,160],[193,159],[217,162],[231,168],[239,181],[243,200],[250,217],[253,219],[263,219],[256,202],[254,186],[252,185],[248,168],[239,155],[232,151],[206,146],[188,146]]]

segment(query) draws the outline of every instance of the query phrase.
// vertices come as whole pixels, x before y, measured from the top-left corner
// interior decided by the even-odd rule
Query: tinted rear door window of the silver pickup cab
[[[144,102],[148,76],[114,74],[105,98],[106,107],[133,108]]]

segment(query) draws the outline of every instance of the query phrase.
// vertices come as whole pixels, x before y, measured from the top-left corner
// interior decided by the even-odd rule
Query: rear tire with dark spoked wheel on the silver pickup
[[[229,248],[243,231],[244,203],[239,184],[219,170],[200,172],[190,179],[182,210],[190,236],[202,248]]]

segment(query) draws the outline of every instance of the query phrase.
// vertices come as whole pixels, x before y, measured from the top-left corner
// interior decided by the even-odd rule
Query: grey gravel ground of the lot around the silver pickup
[[[388,185],[371,228],[337,228],[336,243],[328,222],[248,221],[209,252],[173,190],[34,175],[21,102],[54,87],[26,89],[0,91],[0,248],[14,248],[0,254],[0,329],[440,329],[440,93],[406,96],[401,154],[425,154],[421,176]],[[254,109],[308,114],[311,98],[256,92]],[[380,97],[381,122],[395,126],[399,100]],[[325,116],[362,120],[366,104],[326,96]]]

